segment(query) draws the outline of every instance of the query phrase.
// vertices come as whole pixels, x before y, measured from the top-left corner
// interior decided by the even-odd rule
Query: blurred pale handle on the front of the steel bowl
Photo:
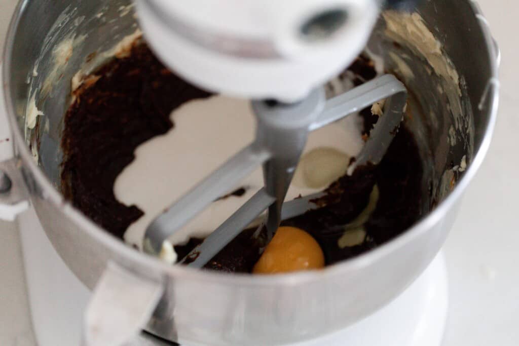
[[[142,345],[139,334],[151,319],[163,292],[159,280],[145,279],[109,262],[85,312],[81,345]],[[158,345],[150,340],[144,344]]]

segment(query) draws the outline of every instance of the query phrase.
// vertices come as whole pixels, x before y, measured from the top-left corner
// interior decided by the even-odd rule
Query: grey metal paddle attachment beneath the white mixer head
[[[268,209],[267,213],[267,242],[271,239],[279,223],[283,219],[301,215],[309,210],[316,209],[313,199],[323,196],[323,193],[306,196],[301,199],[283,203],[286,191],[292,181],[293,172],[306,144],[310,131],[317,130],[334,121],[374,104],[386,100],[384,114],[378,120],[356,161],[350,165],[348,173],[359,165],[378,164],[386,154],[400,123],[407,102],[407,90],[404,85],[392,75],[384,75],[370,82],[354,88],[334,98],[323,101],[323,92],[312,93],[308,99],[294,105],[270,105],[264,102],[253,103],[258,119],[256,141],[254,148],[256,159],[249,154],[238,154],[230,159],[223,168],[210,175],[204,182],[195,187],[192,192],[173,204],[168,211],[159,216],[146,230],[146,239],[152,242],[153,253],[158,253],[162,242],[177,229],[202,211],[212,200],[230,190],[238,183],[243,174],[250,173],[258,165],[263,164],[266,185],[249,201],[245,202],[238,211],[231,215],[211,235],[191,251],[182,262],[189,262],[190,267],[201,268],[251,222]],[[247,151],[248,148],[244,149]],[[250,150],[250,149],[249,149]],[[240,162],[243,160],[243,162]],[[245,162],[245,163],[244,163]],[[242,167],[240,174],[230,165]],[[243,169],[243,167],[249,169]],[[209,189],[209,183],[226,182],[220,189]],[[225,191],[223,189],[225,187]],[[216,191],[217,190],[217,191]],[[208,197],[199,199],[199,196]],[[186,205],[186,201],[190,204]],[[202,203],[203,202],[203,203]],[[184,205],[179,203],[184,203]],[[194,205],[193,205],[194,204]],[[179,214],[182,211],[184,214]],[[186,211],[189,213],[186,214]]]

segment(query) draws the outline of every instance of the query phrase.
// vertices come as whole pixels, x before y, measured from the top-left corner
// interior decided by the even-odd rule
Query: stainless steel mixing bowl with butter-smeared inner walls
[[[94,60],[100,63],[101,52],[135,30],[128,5],[128,0],[21,1],[4,52],[4,96],[16,155],[0,164],[12,182],[10,191],[0,194],[2,210],[16,214],[30,200],[66,265],[87,287],[97,285],[87,326],[107,316],[121,321],[111,326],[114,335],[149,320],[151,333],[195,344],[295,342],[359,321],[417,278],[442,246],[494,128],[499,52],[475,3],[423,1],[412,9],[459,74],[459,94],[450,99],[442,91],[458,86],[440,81],[425,59],[427,51],[413,47],[412,40],[394,44],[384,20],[369,45],[414,95],[409,103],[414,117],[406,125],[426,163],[424,217],[389,243],[322,271],[261,277],[167,266],[112,237],[59,192],[59,143],[71,79],[89,54],[97,51]],[[72,39],[73,51],[56,67],[52,54],[65,39]],[[405,58],[412,77],[391,52]],[[25,117],[33,96],[45,115],[28,129]],[[459,103],[461,118],[453,115],[453,102]],[[455,173],[453,166],[463,157],[468,168]],[[135,319],[123,322],[117,316]]]

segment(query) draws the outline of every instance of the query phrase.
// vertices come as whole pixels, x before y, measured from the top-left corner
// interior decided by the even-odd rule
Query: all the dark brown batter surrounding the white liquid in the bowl
[[[376,77],[373,63],[363,57],[349,71],[356,75],[355,85]],[[94,75],[97,77],[75,91],[75,101],[64,118],[62,189],[85,215],[122,238],[142,211],[115,199],[116,177],[132,162],[136,147],[174,126],[169,119],[172,110],[210,94],[176,77],[142,43],[136,43],[128,57],[114,59]],[[369,109],[361,115],[368,134],[377,117]],[[418,147],[413,135],[402,127],[378,166],[362,167],[352,176],[338,179],[327,189],[327,196],[318,201],[325,206],[285,220],[283,225],[312,234],[330,265],[387,242],[412,226],[420,217],[421,181]],[[341,226],[365,209],[375,185],[379,200],[364,225],[366,240],[358,246],[339,248],[337,240],[344,233]],[[243,192],[240,188],[233,195]],[[243,231],[206,268],[250,272],[264,245],[263,234],[258,239],[251,237],[254,231]],[[183,258],[201,241],[191,239],[188,244],[175,246],[175,251]]]

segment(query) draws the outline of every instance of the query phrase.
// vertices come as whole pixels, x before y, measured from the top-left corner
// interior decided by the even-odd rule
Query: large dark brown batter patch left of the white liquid
[[[62,188],[74,206],[122,238],[142,211],[115,199],[115,179],[136,147],[173,127],[172,109],[210,94],[172,74],[144,44],[94,75],[100,78],[76,90],[64,119]]]

